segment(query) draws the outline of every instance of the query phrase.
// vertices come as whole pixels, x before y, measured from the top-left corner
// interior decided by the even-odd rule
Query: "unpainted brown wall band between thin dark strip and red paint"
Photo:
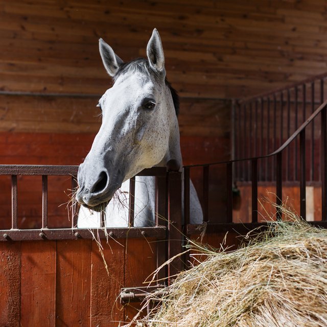
[[[0,132],[98,132],[101,111],[95,97],[37,97],[0,95]],[[230,127],[230,102],[180,100],[181,135],[225,136]]]

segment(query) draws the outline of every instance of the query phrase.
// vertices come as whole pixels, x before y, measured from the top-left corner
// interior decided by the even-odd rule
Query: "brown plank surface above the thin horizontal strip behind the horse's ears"
[[[0,0],[0,90],[98,95],[104,38],[124,60],[159,30],[182,97],[254,95],[327,72],[324,0]]]

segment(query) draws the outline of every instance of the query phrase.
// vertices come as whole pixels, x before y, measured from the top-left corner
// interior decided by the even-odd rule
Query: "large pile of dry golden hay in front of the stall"
[[[136,326],[327,326],[327,230],[276,222],[248,246],[205,254]]]

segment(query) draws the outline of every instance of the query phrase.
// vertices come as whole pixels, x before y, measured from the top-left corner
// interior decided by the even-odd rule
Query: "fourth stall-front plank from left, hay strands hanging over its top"
[[[91,252],[90,325],[113,327],[124,321],[124,310],[119,304],[120,289],[124,287],[124,247],[115,241],[103,242],[102,253],[96,242]]]

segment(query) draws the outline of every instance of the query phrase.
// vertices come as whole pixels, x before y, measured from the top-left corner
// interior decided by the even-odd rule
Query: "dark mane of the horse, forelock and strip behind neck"
[[[149,61],[144,58],[137,58],[134,59],[130,62],[124,62],[116,72],[115,76],[113,77],[113,80],[115,81],[119,76],[121,76],[124,73],[127,72],[139,72],[139,73],[146,73],[150,74],[152,71]],[[153,72],[153,71],[152,71]],[[168,82],[167,78],[165,79],[165,83],[170,89],[172,98],[173,98],[173,103],[174,103],[174,108],[176,115],[178,116],[179,114],[179,96],[177,91],[171,86],[171,84]]]

